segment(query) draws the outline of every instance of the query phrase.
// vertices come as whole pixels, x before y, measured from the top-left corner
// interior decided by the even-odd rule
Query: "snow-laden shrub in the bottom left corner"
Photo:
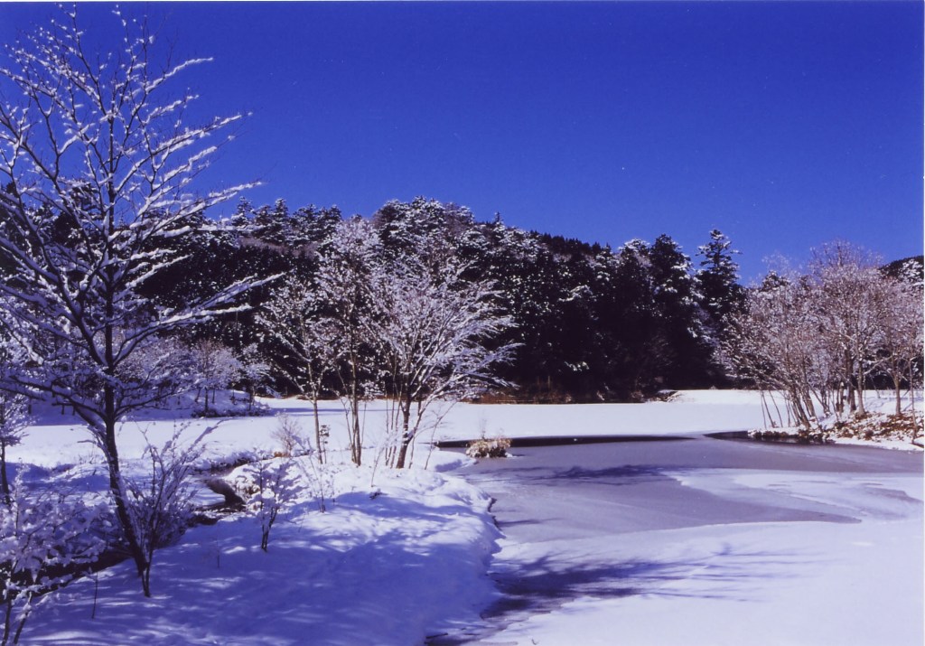
[[[96,531],[103,517],[102,504],[50,489],[30,495],[21,475],[14,478],[0,503],[0,643],[18,643],[36,605],[52,603],[55,590],[96,560],[105,548]]]

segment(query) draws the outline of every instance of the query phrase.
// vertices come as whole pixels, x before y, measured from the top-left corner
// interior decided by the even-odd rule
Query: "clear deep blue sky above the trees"
[[[835,238],[922,253],[923,6],[123,8],[215,57],[185,77],[203,113],[253,113],[206,179],[262,180],[256,205],[369,216],[425,195],[586,242],[668,233],[688,255],[719,228],[747,281]],[[0,4],[0,41],[52,13]]]

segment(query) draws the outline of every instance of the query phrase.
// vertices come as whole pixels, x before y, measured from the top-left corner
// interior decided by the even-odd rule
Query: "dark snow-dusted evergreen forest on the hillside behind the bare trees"
[[[336,300],[318,280],[343,261],[347,231],[365,238],[353,242],[365,254],[351,261],[357,271],[362,262],[365,271],[398,284],[413,265],[434,280],[451,277],[459,287],[491,292],[486,298],[505,324],[488,345],[510,349],[495,368],[494,390],[503,400],[642,401],[662,389],[729,384],[716,350],[724,317],[745,291],[736,252],[718,230],[692,260],[668,235],[613,250],[510,227],[500,217],[477,221],[464,206],[423,197],[390,202],[369,218],[344,218],[335,208],[291,210],[284,200],[260,207],[241,201],[221,226],[203,214],[194,230],[179,242],[183,261],[167,268],[147,295],[176,304],[235,280],[284,276],[248,292],[249,312],[189,330],[239,355],[256,348],[269,366],[266,386],[277,392],[306,393],[292,379],[289,351],[281,352],[274,338],[279,326],[267,328],[267,307],[280,290],[291,295],[295,283],[313,289],[315,300]],[[357,284],[361,274],[354,275]],[[375,292],[369,307],[388,297],[381,286]],[[322,396],[343,389],[336,372],[312,369]]]

